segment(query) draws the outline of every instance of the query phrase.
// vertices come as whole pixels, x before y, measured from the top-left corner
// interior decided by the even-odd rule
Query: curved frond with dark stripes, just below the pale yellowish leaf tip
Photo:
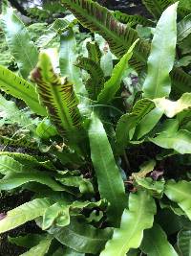
[[[124,114],[121,116],[117,123],[117,147],[118,151],[121,151],[130,140],[130,130],[135,128],[141,119],[148,114],[153,108],[155,104],[148,100],[143,99],[137,102],[134,105],[134,108],[131,113]]]

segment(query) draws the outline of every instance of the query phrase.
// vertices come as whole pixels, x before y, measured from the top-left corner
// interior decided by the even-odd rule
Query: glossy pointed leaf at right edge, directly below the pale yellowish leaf
[[[172,149],[182,154],[191,153],[191,132],[185,129],[163,131],[149,140],[164,149]]]

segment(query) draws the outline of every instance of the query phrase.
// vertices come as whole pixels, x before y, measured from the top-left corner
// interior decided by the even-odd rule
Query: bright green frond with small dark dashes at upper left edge
[[[46,116],[46,109],[39,104],[34,86],[3,66],[0,66],[0,88],[7,94],[23,100],[35,113]]]

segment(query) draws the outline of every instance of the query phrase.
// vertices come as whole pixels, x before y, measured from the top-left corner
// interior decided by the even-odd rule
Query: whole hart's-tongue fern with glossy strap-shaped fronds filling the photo
[[[34,220],[41,233],[10,238],[29,248],[25,256],[189,255],[189,1],[142,1],[153,20],[91,0],[61,2],[95,34],[77,45],[74,16],[57,21],[46,32],[60,38],[57,55],[39,51],[4,1],[19,74],[0,66],[0,88],[31,110],[2,98],[2,126],[28,130],[1,144],[30,151],[0,152],[0,190],[33,196],[0,215],[0,233]],[[153,27],[150,40],[138,24]]]

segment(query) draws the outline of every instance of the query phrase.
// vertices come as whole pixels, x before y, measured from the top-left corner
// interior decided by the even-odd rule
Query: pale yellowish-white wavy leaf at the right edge
[[[177,102],[161,98],[154,100],[157,107],[163,110],[164,114],[172,118],[183,110],[191,107],[191,93],[184,93]]]

